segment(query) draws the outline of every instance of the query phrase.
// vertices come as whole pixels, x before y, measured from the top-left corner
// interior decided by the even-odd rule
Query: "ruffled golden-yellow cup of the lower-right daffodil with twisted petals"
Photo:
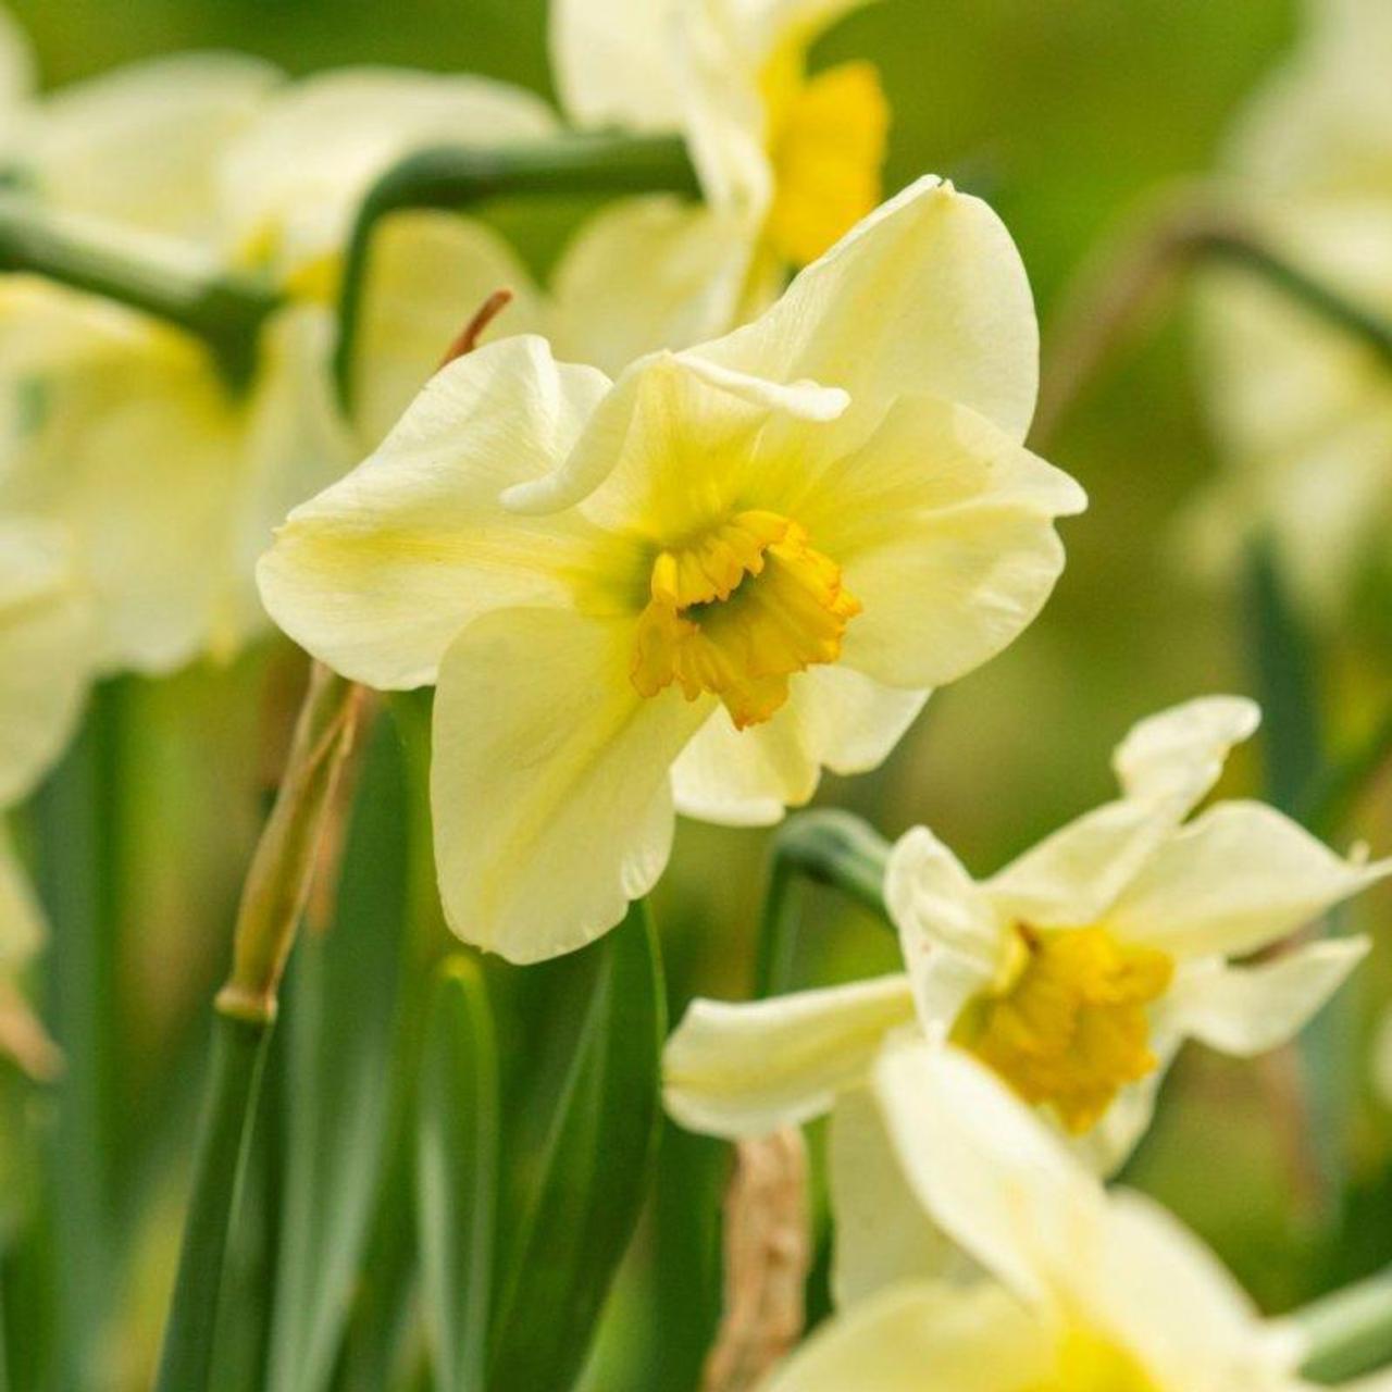
[[[1005,991],[967,1009],[954,1037],[1082,1134],[1122,1087],[1155,1069],[1146,1006],[1169,986],[1173,963],[1100,927],[1016,931],[1023,966]]]

